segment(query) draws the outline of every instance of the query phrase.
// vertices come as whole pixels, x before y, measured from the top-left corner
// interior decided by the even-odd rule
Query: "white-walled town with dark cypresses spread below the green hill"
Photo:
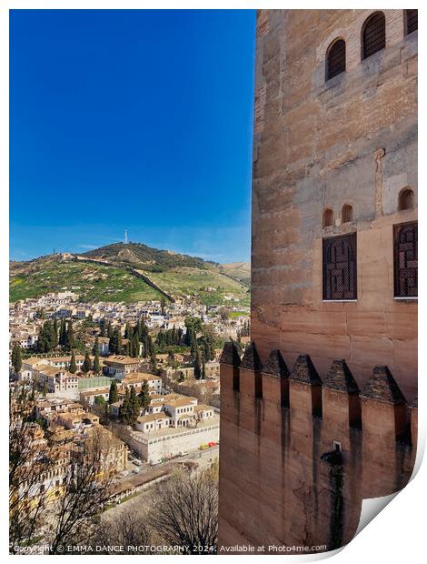
[[[247,311],[166,300],[82,304],[72,291],[11,304],[11,424],[25,397],[31,444],[37,452],[55,445],[55,469],[39,472],[30,497],[61,499],[69,460],[94,442],[101,475],[112,480],[109,503],[134,497],[175,463],[211,465],[219,358],[230,339],[243,352]]]

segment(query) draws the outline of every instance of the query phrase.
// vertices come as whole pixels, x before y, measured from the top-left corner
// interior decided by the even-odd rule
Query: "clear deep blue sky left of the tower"
[[[14,10],[11,257],[249,260],[254,11]]]

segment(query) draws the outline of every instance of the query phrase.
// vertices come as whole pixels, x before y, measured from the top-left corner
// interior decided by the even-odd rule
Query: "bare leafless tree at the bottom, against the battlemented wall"
[[[218,485],[212,469],[188,476],[175,471],[154,490],[150,519],[154,530],[186,554],[215,547],[218,536]]]

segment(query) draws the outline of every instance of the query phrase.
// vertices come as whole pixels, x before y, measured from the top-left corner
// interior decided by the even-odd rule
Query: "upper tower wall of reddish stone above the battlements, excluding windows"
[[[417,32],[385,10],[386,48],[361,61],[372,10],[260,10],[253,145],[252,337],[262,358],[308,353],[321,377],[345,358],[363,386],[387,365],[416,393],[416,301],[393,298],[392,227],[417,201]],[[346,41],[346,72],[325,54]],[[353,221],[341,222],[344,204]],[[334,212],[323,228],[323,210]],[[323,237],[357,232],[357,302],[323,302]]]

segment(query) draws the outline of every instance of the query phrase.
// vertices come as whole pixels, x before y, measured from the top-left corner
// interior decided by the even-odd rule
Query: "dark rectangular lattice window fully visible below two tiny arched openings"
[[[357,299],[356,234],[323,239],[323,299]]]

